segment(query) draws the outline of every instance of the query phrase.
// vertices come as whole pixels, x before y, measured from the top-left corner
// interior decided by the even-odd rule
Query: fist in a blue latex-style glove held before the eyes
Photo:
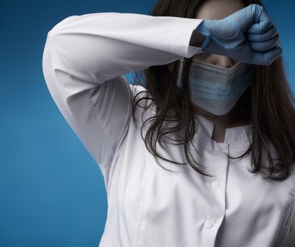
[[[204,52],[229,56],[246,64],[270,65],[282,55],[277,28],[258,4],[219,20],[204,19],[196,28],[206,38]]]

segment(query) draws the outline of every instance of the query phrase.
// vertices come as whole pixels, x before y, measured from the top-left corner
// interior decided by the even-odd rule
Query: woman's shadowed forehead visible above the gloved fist
[[[195,18],[219,20],[244,7],[241,0],[204,0],[198,5]]]

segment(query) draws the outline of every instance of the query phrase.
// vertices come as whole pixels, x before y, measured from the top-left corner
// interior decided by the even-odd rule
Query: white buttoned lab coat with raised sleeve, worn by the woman
[[[145,88],[129,85],[124,74],[201,52],[189,41],[202,20],[90,13],[65,18],[48,32],[47,87],[104,176],[108,211],[100,247],[295,246],[295,172],[267,181],[247,170],[250,157],[225,155],[246,150],[251,125],[227,128],[224,143],[217,143],[214,124],[198,116],[195,157],[207,160],[215,175],[206,177],[188,164],[159,159],[176,172],[159,167],[131,119],[132,97]],[[143,120],[138,112],[138,121],[154,111]],[[157,148],[186,162],[183,145]]]

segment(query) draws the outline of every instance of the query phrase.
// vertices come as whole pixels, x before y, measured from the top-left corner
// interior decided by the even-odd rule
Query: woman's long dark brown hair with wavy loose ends
[[[150,16],[195,18],[198,5],[201,2],[202,0],[159,0],[152,8]],[[263,6],[261,1],[246,0],[243,2],[245,6],[250,4]],[[183,131],[183,138],[179,142],[184,145],[188,164],[198,173],[204,176],[211,176],[206,174],[203,169],[198,168],[200,164],[193,159],[194,155],[191,155],[188,148],[189,143],[193,140],[195,131],[198,130],[196,128],[196,126],[198,127],[198,122],[195,119],[195,114],[198,114],[198,107],[191,102],[191,88],[188,83],[188,72],[192,59],[184,58],[184,61],[181,78],[183,85],[181,89],[176,86],[180,65],[179,60],[162,66],[150,66],[143,71],[135,72],[136,80],[133,85],[142,85],[146,90],[138,92],[133,98],[133,121],[136,121],[136,107],[144,108],[142,104],[139,105],[140,101],[152,100],[157,105],[157,112],[155,116],[143,123],[140,131],[143,138],[143,128],[145,124],[152,120],[152,125],[148,128],[145,138],[143,138],[145,140],[145,147],[155,157],[156,161],[159,157],[174,164],[181,164],[159,155],[156,152],[155,142],[153,141],[159,140],[160,145],[162,145],[162,138],[166,134],[181,130]],[[251,66],[254,71],[253,83],[251,83],[251,86],[248,87],[235,106],[238,109],[236,117],[252,125],[251,145],[239,157],[228,156],[238,159],[251,154],[252,171],[249,171],[255,173],[257,171],[261,172],[263,169],[261,163],[263,151],[266,150],[270,164],[267,167],[267,171],[270,171],[267,179],[282,181],[287,179],[295,162],[295,100],[285,76],[282,56],[273,61],[270,66],[253,64]],[[142,83],[140,78],[145,83]],[[151,97],[139,97],[140,94],[145,92],[149,92]],[[148,107],[145,107],[145,109]],[[171,111],[174,114],[169,114],[168,117],[168,112]],[[171,116],[173,117],[171,118]],[[173,128],[162,128],[163,123],[171,121],[171,119],[179,124]],[[268,142],[272,143],[277,151],[278,162],[275,165]],[[158,161],[157,164],[159,164]],[[197,166],[194,164],[197,164]],[[162,167],[161,164],[159,165]],[[279,172],[279,176],[272,176],[274,171]]]

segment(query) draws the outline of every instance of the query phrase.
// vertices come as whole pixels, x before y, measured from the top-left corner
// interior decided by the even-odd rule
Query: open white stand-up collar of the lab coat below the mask
[[[209,135],[209,138],[212,140],[214,123],[200,115],[197,115],[197,121],[200,123],[201,128],[205,130],[206,134]],[[251,131],[252,124],[227,128],[224,136],[224,143],[235,147],[244,147],[245,145],[249,144],[247,133],[251,140]],[[212,140],[212,142],[217,143],[215,140]]]

